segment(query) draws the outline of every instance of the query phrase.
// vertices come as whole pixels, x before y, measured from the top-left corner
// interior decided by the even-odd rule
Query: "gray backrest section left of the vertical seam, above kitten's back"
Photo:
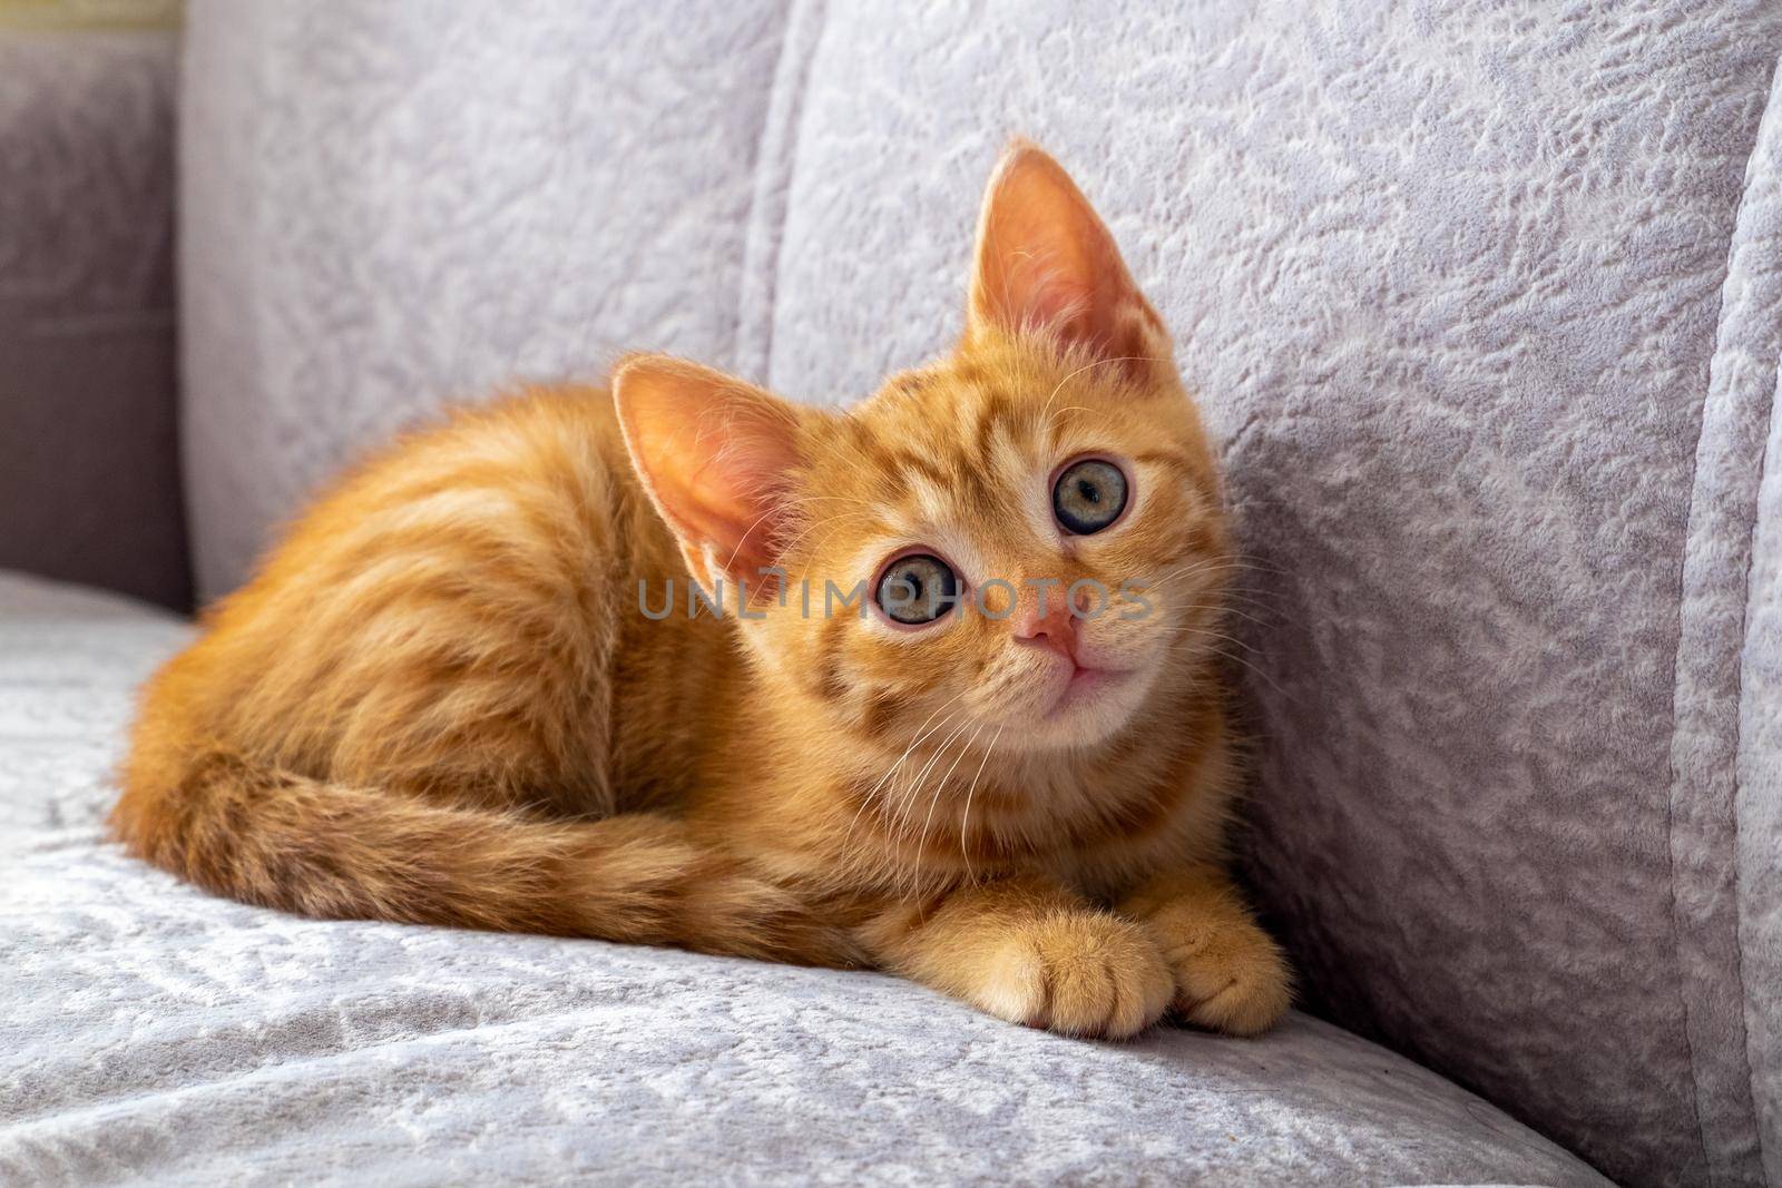
[[[182,354],[200,593],[346,460],[620,351],[732,358],[781,0],[198,0]],[[759,271],[759,269],[754,269]]]

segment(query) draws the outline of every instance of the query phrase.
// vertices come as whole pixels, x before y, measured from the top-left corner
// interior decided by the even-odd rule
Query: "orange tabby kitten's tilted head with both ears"
[[[747,581],[741,638],[800,712],[898,748],[1085,746],[1205,671],[1214,460],[1162,321],[1034,146],[991,178],[948,358],[845,413],[654,356],[615,397],[693,577],[732,618]]]

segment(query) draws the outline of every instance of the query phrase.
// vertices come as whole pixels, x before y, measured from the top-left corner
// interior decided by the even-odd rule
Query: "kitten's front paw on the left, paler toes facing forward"
[[[1126,1038],[1157,1022],[1174,989],[1144,930],[1114,915],[1060,912],[1016,930],[977,999],[1012,1022]]]

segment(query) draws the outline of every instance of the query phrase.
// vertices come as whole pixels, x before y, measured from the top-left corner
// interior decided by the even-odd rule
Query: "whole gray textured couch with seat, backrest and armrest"
[[[1304,1013],[1083,1044],[208,899],[100,830],[191,629],[18,574],[0,1183],[1782,1184],[1782,5],[201,0],[176,394],[171,39],[0,37],[0,561],[182,607],[618,349],[855,399],[1028,134],[1221,443]]]

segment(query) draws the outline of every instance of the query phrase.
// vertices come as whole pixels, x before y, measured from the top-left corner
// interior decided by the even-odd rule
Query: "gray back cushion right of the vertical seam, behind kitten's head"
[[[1313,1005],[1618,1177],[1755,1181],[1782,1058],[1745,1013],[1782,992],[1739,978],[1732,755],[1778,240],[1727,278],[1782,5],[829,5],[809,43],[768,381],[943,349],[984,173],[1051,148],[1222,447],[1256,882]]]

